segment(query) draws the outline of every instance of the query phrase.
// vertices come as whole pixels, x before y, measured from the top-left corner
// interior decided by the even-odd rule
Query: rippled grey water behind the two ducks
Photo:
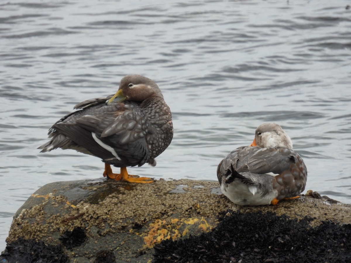
[[[217,180],[219,161],[274,121],[305,160],[306,190],[351,203],[350,1],[3,3],[0,249],[39,187],[102,176],[95,157],[37,147],[126,74],[158,83],[174,123],[157,166],[132,174]]]

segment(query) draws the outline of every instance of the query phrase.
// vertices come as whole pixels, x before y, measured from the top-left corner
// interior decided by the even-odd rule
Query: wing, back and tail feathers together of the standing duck
[[[106,106],[108,97],[78,103],[75,108],[81,109],[62,117],[49,129],[51,140],[39,147],[41,152],[75,149],[117,166],[141,166],[150,161],[146,140],[153,130],[147,127],[139,103]]]

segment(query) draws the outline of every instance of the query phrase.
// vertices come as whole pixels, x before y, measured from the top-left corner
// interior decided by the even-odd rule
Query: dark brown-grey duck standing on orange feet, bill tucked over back
[[[74,149],[102,159],[104,176],[134,183],[148,177],[128,175],[127,166],[156,165],[155,157],[170,145],[173,124],[170,108],[155,82],[127,75],[116,94],[83,101],[49,129],[51,140],[38,149]],[[111,164],[121,168],[112,173]]]

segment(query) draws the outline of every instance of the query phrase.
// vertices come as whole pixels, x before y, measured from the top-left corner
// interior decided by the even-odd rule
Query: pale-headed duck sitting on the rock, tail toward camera
[[[219,163],[217,178],[222,193],[234,204],[276,205],[299,197],[307,169],[282,127],[264,123],[250,146],[233,150]]]

